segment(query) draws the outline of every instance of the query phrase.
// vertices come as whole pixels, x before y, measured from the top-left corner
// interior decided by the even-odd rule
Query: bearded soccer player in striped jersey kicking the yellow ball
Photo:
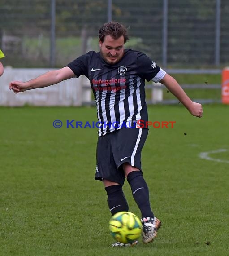
[[[67,66],[30,81],[13,81],[9,89],[21,93],[80,75],[90,80],[100,122],[95,179],[103,181],[108,207],[114,215],[129,210],[122,190],[126,178],[141,211],[143,243],[149,243],[156,237],[161,222],[151,210],[149,190],[141,168],[141,151],[148,129],[136,124],[138,120],[147,122],[148,118],[145,80],[164,84],[192,115],[202,117],[203,109],[201,104],[192,102],[177,81],[147,55],[125,49],[127,40],[125,26],[118,22],[106,23],[99,29],[100,52],[90,51]],[[127,245],[135,244],[138,241]],[[112,246],[126,244],[117,242]]]

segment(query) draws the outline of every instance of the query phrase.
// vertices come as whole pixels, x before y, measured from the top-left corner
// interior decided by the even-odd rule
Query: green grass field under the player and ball
[[[151,127],[143,148],[162,228],[153,243],[133,248],[110,247],[106,193],[94,180],[97,128],[52,126],[97,121],[95,108],[1,107],[0,255],[229,255],[229,106],[203,107],[201,119],[180,105],[148,107],[150,121],[176,124]],[[124,190],[139,216],[127,183]]]

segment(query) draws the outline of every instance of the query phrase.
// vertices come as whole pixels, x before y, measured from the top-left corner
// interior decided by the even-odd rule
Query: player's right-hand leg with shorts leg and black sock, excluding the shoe
[[[149,200],[149,190],[141,170],[141,152],[148,134],[147,129],[123,128],[112,137],[114,161],[120,173],[124,173],[130,184],[133,197],[142,217],[154,217]]]

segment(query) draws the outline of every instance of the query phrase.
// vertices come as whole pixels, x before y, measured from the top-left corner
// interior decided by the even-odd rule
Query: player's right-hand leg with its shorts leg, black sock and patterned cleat
[[[125,172],[125,177],[130,184],[132,194],[137,203],[143,223],[143,243],[149,243],[156,237],[160,228],[160,221],[154,216],[149,199],[149,190],[141,169],[141,151],[147,138],[147,129],[122,129],[119,133],[121,143],[120,168]],[[116,158],[115,158],[116,159]]]

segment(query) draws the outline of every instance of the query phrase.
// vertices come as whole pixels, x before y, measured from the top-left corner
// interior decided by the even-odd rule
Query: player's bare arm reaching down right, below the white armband
[[[166,74],[163,79],[160,81],[161,84],[164,84],[171,93],[189,110],[189,112],[197,117],[202,117],[203,108],[202,105],[193,102],[181,86],[177,83],[176,79],[174,79],[171,75]]]

